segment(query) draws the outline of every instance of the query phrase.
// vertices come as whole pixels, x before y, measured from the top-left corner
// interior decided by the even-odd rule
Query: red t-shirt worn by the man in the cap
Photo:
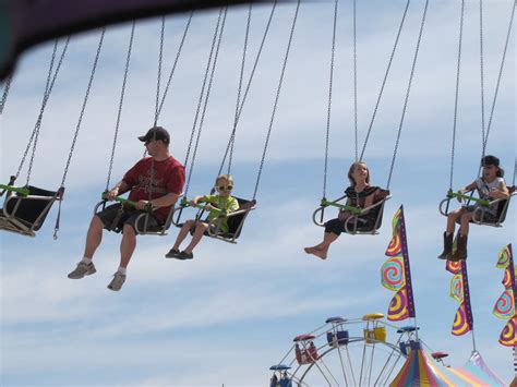
[[[153,173],[151,168],[153,166]],[[129,195],[130,201],[148,201],[149,199],[149,180],[153,176],[151,184],[151,198],[157,198],[175,193],[181,195],[185,182],[184,167],[172,156],[163,161],[154,161],[151,157],[145,157],[134,165],[123,177],[123,181],[131,188]],[[161,221],[167,219],[170,206],[160,207],[154,211],[154,215]]]

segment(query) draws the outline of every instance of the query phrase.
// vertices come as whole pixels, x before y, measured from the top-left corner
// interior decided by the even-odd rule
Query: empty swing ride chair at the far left
[[[0,211],[0,230],[35,237],[53,202],[62,199],[64,188],[55,192],[33,185],[15,188],[13,183],[14,179],[11,178],[8,185],[2,185],[0,196],[5,194],[5,199]]]

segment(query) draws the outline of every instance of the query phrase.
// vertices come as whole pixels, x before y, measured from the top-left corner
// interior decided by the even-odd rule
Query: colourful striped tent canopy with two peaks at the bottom
[[[473,352],[461,367],[438,365],[424,350],[411,351],[389,386],[506,386]]]

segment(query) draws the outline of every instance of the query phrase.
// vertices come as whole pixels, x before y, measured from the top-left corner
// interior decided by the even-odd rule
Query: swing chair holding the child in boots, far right
[[[449,207],[449,204],[450,204],[450,199],[453,199],[455,197],[467,198],[467,202],[464,204],[464,206],[469,206],[472,202],[476,202],[476,203],[480,204],[480,206],[478,208],[476,208],[474,211],[472,213],[472,221],[471,222],[473,222],[476,225],[480,225],[480,226],[503,227],[502,223],[506,219],[506,213],[508,211],[508,206],[509,206],[509,202],[512,199],[512,196],[515,196],[517,194],[515,192],[515,185],[508,186],[508,193],[509,193],[508,198],[495,198],[495,199],[492,199],[492,201],[484,201],[484,199],[473,197],[472,196],[473,192],[470,195],[465,195],[465,194],[459,193],[459,192],[455,193],[455,192],[449,191],[447,193],[447,197],[444,198],[442,202],[440,202],[438,210],[440,210],[440,214],[442,214],[443,216],[448,216],[448,214],[449,214],[448,207]],[[444,208],[444,206],[445,206],[445,208]],[[495,216],[495,220],[494,221],[483,220],[484,213],[489,208],[494,207],[494,206],[497,206],[497,213],[496,213],[496,216]],[[460,219],[458,218],[456,221],[459,223]]]

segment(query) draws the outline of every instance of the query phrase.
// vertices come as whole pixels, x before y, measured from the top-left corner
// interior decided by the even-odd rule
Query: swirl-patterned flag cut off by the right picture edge
[[[497,299],[493,313],[500,318],[508,319],[500,336],[500,343],[506,347],[517,346],[517,316],[515,313],[515,266],[512,254],[512,244],[506,245],[497,257],[497,268],[504,269],[503,294]]]

